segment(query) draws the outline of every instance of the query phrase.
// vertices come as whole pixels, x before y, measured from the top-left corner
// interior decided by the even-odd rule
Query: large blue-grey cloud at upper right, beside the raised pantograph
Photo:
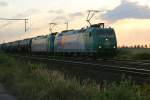
[[[137,2],[122,0],[119,6],[107,11],[102,15],[102,18],[110,22],[127,18],[150,19],[150,8],[138,5]]]

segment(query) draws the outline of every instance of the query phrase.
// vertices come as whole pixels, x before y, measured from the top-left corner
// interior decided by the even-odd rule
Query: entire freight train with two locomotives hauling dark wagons
[[[105,28],[104,23],[99,23],[79,30],[4,43],[2,49],[28,55],[101,57],[115,54],[117,39],[113,28]]]

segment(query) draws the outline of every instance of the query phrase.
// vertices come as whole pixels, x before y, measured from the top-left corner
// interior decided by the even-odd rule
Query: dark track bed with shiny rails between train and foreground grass
[[[138,78],[138,81],[140,80],[140,82],[150,82],[150,70],[149,70],[150,66],[148,66],[148,62],[146,62],[147,63],[147,66],[146,66],[145,62],[137,61],[136,63],[136,61],[131,61],[131,60],[130,61],[128,60],[118,61],[118,60],[110,60],[110,59],[109,60],[99,59],[99,60],[91,61],[91,60],[51,59],[51,58],[46,58],[42,56],[41,57],[21,56],[21,55],[13,55],[13,56],[17,58],[27,59],[27,60],[34,60],[36,62],[44,62],[44,63],[46,62],[50,64],[51,66],[56,65],[58,67],[58,64],[59,64],[59,65],[65,66],[65,68],[70,68],[72,70],[80,69],[80,71],[88,71],[88,73],[94,72],[96,74],[94,77],[99,77],[98,74],[102,73],[105,70],[105,71],[111,72],[111,74],[120,73],[119,74],[120,76],[123,74],[126,74],[131,77],[136,77],[135,79]]]

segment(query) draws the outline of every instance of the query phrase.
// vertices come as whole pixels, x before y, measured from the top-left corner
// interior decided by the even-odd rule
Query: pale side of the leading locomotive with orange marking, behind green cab
[[[55,40],[56,52],[85,52],[85,41],[82,33],[74,31],[58,34]]]

